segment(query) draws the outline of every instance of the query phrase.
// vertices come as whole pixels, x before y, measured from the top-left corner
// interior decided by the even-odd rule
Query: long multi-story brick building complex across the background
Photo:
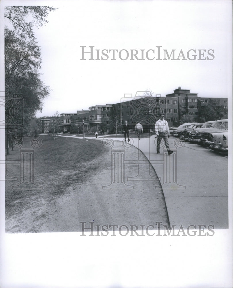
[[[216,111],[216,120],[227,119],[227,98],[198,97],[197,93],[190,93],[190,90],[178,87],[173,90],[173,93],[166,94],[164,97],[135,95],[126,97],[120,103],[95,105],[89,107],[89,110],[60,114],[61,130],[69,131],[71,124],[82,125],[84,121],[85,130],[91,128],[97,130],[99,124],[105,122],[107,132],[115,132],[116,126],[118,126],[117,131],[122,132],[122,124],[125,120],[132,127],[140,121],[146,130],[153,130],[161,112],[165,114],[169,126],[174,126],[178,124],[184,114],[192,115],[195,121],[205,105],[211,105]],[[119,124],[121,125],[119,126]]]

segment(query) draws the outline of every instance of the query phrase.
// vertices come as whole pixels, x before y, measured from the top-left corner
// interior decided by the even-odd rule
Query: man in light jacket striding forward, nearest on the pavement
[[[160,154],[160,144],[161,140],[163,139],[165,141],[165,145],[167,148],[168,155],[171,155],[173,151],[170,150],[169,144],[168,144],[168,138],[170,137],[170,131],[168,127],[167,121],[164,119],[164,114],[160,114],[160,119],[156,121],[155,123],[155,133],[157,135],[157,153]]]

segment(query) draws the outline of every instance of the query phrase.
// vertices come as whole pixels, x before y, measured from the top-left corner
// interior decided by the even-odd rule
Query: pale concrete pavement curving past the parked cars
[[[228,158],[175,137],[169,138],[171,156],[162,143],[161,154],[157,154],[156,143],[154,135],[130,138],[130,144],[144,153],[160,178],[170,225],[228,228]]]

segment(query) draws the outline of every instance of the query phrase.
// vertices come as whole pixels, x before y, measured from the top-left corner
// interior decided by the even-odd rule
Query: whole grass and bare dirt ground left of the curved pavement
[[[149,162],[142,165],[139,181],[134,179],[139,173],[137,164],[121,166],[126,188],[112,189],[108,188],[112,151],[102,141],[40,137],[43,143],[34,149],[34,183],[43,189],[12,189],[20,184],[20,165],[7,164],[7,175],[18,180],[5,181],[6,232],[75,232],[81,231],[81,221],[138,227],[161,221],[168,225],[163,192],[155,190],[160,182]],[[25,137],[22,148],[30,148],[30,140]],[[115,141],[114,149],[122,151],[121,144]],[[125,160],[137,160],[138,153],[147,160],[133,146],[124,153]],[[7,160],[20,160],[20,148],[10,151]],[[149,175],[152,181],[141,180]]]

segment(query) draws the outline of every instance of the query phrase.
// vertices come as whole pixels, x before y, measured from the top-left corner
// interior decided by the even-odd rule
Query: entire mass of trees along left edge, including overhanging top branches
[[[12,107],[16,128],[9,128],[5,123],[7,147],[9,137],[28,133],[30,121],[36,111],[42,110],[43,100],[49,95],[49,87],[40,79],[41,50],[35,41],[33,27],[48,22],[46,17],[54,10],[56,8],[39,6],[5,7],[5,19],[8,20],[5,22],[5,103],[10,103],[14,95],[22,100],[20,113],[16,113],[16,107]],[[12,116],[12,109],[5,105],[5,119]]]

